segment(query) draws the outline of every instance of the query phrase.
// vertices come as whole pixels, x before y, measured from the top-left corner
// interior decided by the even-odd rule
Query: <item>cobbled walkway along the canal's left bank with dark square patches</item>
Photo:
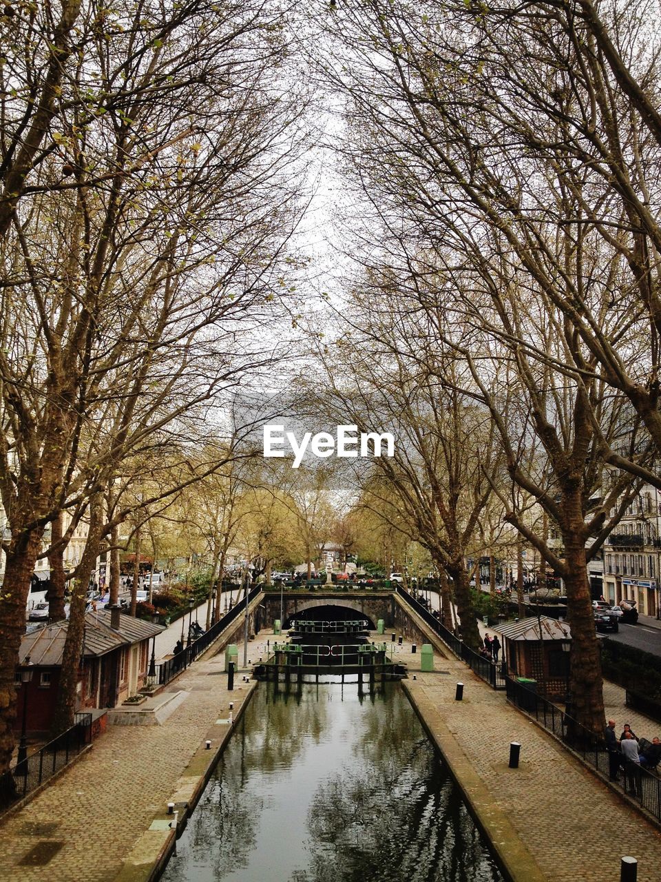
[[[250,658],[263,654],[267,636],[249,645]],[[108,727],[91,751],[0,821],[3,882],[114,880],[152,820],[189,788],[186,770],[204,740],[212,738],[215,747],[227,733],[227,723],[218,721],[227,720],[229,701],[236,718],[252,690],[241,682],[240,668],[234,691],[227,691],[224,661],[224,654],[197,660],[166,687],[177,700],[160,725]]]

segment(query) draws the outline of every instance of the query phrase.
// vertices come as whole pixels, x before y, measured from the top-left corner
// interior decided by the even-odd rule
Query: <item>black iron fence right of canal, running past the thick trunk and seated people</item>
[[[620,751],[609,752],[605,739],[511,677],[505,678],[507,697],[512,704],[530,714],[566,747],[575,751],[595,771],[617,781],[632,799],[661,821],[661,778],[625,759]]]

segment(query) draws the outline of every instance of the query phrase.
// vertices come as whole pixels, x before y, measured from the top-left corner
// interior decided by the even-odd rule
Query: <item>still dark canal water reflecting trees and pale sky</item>
[[[260,684],[162,878],[503,879],[398,683]]]

